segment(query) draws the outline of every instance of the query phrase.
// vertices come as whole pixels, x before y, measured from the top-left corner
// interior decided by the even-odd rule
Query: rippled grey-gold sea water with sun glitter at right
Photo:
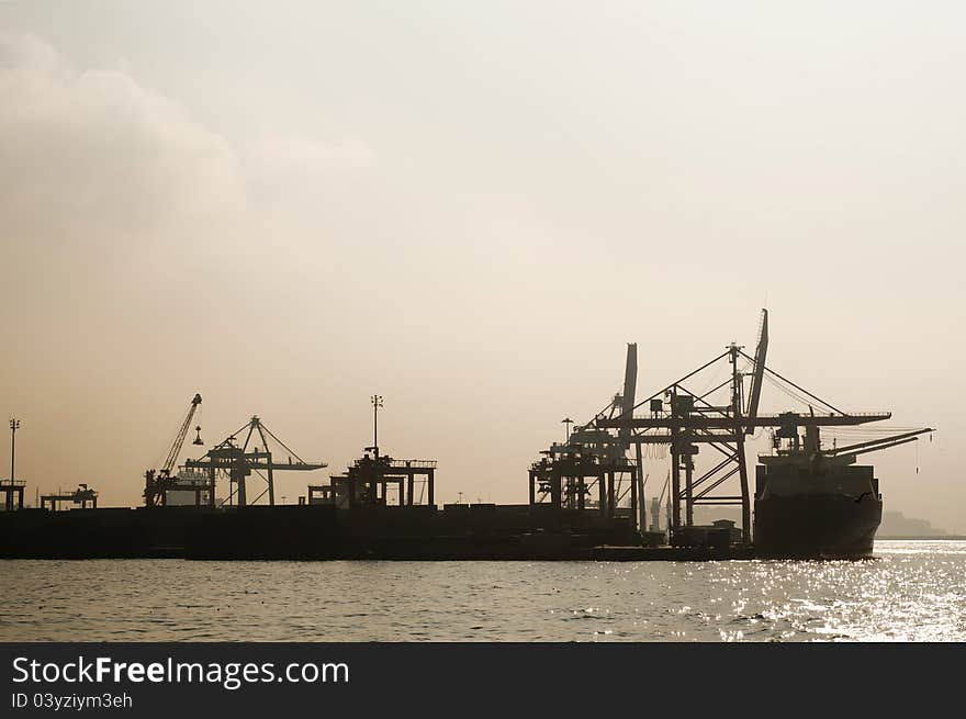
[[[966,641],[966,541],[860,562],[0,561],[5,641]]]

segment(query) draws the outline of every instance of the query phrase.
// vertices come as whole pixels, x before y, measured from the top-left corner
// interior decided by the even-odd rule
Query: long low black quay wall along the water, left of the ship
[[[550,507],[155,507],[0,516],[8,559],[565,559],[637,546],[630,519]]]

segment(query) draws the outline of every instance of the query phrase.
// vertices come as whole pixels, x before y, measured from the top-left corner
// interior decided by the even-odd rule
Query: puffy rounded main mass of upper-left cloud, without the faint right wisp
[[[224,138],[123,66],[78,71],[42,40],[0,33],[0,210],[15,225],[149,231],[238,192]]]

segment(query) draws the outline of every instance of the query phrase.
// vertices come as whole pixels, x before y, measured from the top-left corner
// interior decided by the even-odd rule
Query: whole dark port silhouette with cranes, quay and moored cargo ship
[[[398,460],[380,449],[381,395],[371,397],[372,446],[346,472],[310,484],[296,505],[276,505],[274,472],[314,471],[326,463],[304,461],[257,415],[175,472],[201,405],[195,394],[165,462],[145,472],[144,507],[96,508],[97,493],[85,485],[69,495],[45,495],[38,514],[4,513],[0,547],[11,557],[160,553],[196,559],[868,555],[881,494],[873,469],[856,465],[855,458],[917,441],[931,429],[822,447],[821,428],[864,425],[891,414],[838,409],[767,367],[767,347],[768,315],[763,311],[754,356],[731,342],[638,402],[637,345],[628,345],[621,391],[589,422],[562,420],[564,441],[551,443],[530,464],[528,502],[521,505],[460,502],[440,510],[435,502],[437,461]],[[700,373],[716,368],[723,369],[726,379],[693,391]],[[761,412],[766,380],[804,400],[808,412]],[[746,438],[761,428],[773,430],[775,439],[773,454],[759,458],[752,492]],[[195,432],[192,443],[202,445],[200,424]],[[697,471],[699,448],[714,450],[717,459],[703,472]],[[648,527],[643,458],[653,457],[654,450],[670,457],[671,465],[660,495],[652,498]],[[255,479],[265,485],[250,485]],[[729,481],[737,481],[737,490],[729,492]],[[225,485],[228,494],[217,501],[216,488]],[[16,485],[11,487],[8,504],[18,492]],[[186,503],[173,499],[183,495],[193,501],[178,506]],[[665,496],[666,536],[660,526]],[[48,504],[56,508],[66,501],[79,507],[46,510]],[[723,518],[698,524],[695,508],[700,505],[740,507],[740,528]],[[22,515],[23,521],[10,521],[12,514]],[[69,518],[55,519],[65,515]]]

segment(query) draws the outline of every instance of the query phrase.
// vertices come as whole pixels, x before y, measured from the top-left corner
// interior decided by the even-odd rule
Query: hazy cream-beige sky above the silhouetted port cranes
[[[626,342],[647,394],[767,304],[776,370],[939,427],[873,456],[886,508],[966,532],[964,36],[958,2],[0,2],[16,474],[137,504],[195,392],[209,443],[257,413],[339,470],[378,392],[439,502],[525,502]]]

